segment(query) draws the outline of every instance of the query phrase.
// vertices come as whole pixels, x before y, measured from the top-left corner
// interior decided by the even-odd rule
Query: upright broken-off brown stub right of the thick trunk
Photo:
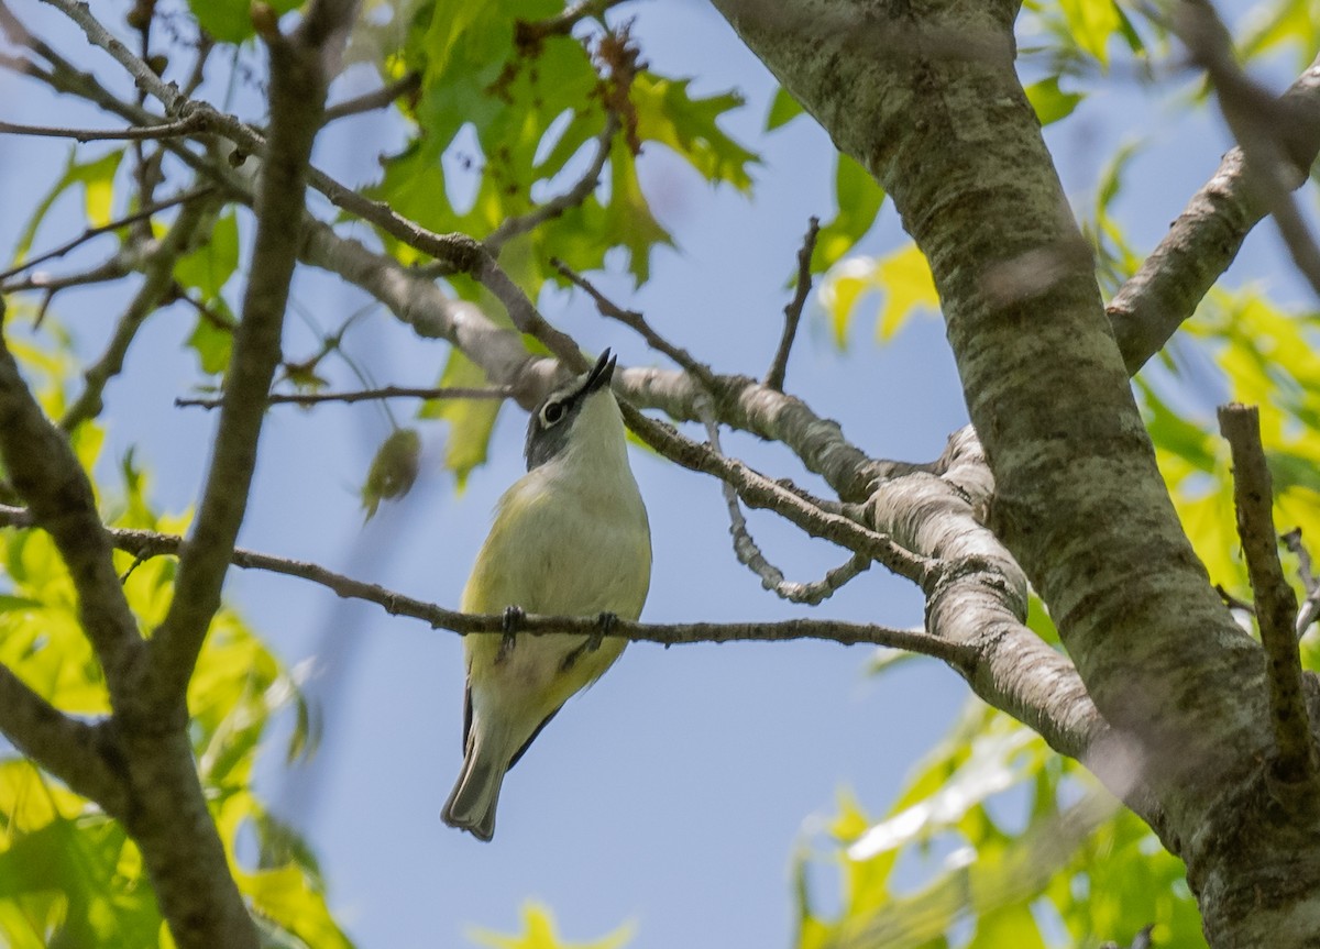
[[[1220,407],[1220,432],[1233,455],[1233,503],[1255,616],[1266,653],[1266,681],[1274,722],[1275,773],[1286,784],[1312,784],[1317,775],[1311,722],[1302,690],[1302,657],[1295,634],[1296,601],[1283,578],[1274,529],[1270,469],[1261,446],[1261,414],[1254,405]]]

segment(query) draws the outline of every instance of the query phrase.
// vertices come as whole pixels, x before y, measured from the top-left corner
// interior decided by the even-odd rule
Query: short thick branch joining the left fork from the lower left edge
[[[63,714],[7,665],[0,665],[0,731],[70,789],[110,814],[124,813],[127,788],[106,729]]]

